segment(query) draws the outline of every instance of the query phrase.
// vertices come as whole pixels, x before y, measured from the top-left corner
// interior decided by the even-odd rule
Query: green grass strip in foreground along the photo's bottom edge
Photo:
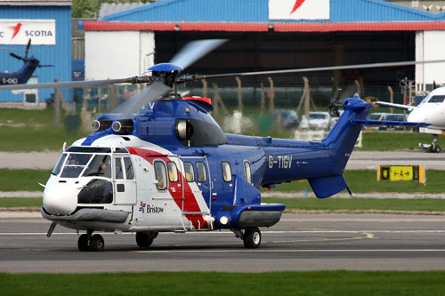
[[[2,295],[443,295],[444,271],[0,274]]]

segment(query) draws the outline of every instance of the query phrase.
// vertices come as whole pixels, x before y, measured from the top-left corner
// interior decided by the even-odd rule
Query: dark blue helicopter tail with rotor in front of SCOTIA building
[[[26,84],[29,78],[32,76],[36,68],[41,67],[53,67],[52,65],[40,65],[40,61],[35,56],[28,58],[29,48],[31,47],[31,39],[29,38],[28,44],[25,49],[25,56],[20,57],[13,52],[9,55],[17,60],[23,60],[24,65],[17,71],[12,73],[0,72],[0,85],[4,84]]]

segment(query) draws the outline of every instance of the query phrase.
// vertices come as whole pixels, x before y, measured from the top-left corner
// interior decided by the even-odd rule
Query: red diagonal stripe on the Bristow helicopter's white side
[[[143,159],[148,161],[151,165],[153,165],[153,157],[156,157],[157,159],[161,159],[165,163],[168,163],[172,161],[168,156],[161,154],[157,151],[143,149],[143,148],[127,148],[128,151],[136,156],[141,156]],[[201,209],[199,208],[198,202],[196,200],[196,196],[193,195],[193,192],[191,191],[190,184],[185,178],[183,177],[181,171],[178,171],[178,178],[179,180],[182,180],[182,190],[184,193],[184,205],[183,205],[183,212],[201,212]],[[174,202],[177,204],[177,206],[182,209],[182,191],[181,190],[172,190],[173,188],[168,188],[168,192],[171,196],[174,198]],[[186,214],[185,217],[190,220],[193,224],[194,228],[206,228],[206,220],[203,219],[201,214]]]

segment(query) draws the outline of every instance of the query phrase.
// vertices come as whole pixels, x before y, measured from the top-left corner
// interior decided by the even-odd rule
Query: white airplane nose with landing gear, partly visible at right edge
[[[376,105],[408,110],[410,112],[407,117],[408,122],[431,124],[428,127],[420,127],[419,132],[432,133],[433,143],[431,145],[419,144],[419,146],[431,152],[441,152],[437,140],[440,134],[445,135],[445,87],[439,87],[430,92],[417,106],[384,101],[378,101]]]

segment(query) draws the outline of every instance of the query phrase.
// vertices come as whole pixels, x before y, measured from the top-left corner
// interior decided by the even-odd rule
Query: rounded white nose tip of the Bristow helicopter
[[[69,215],[76,210],[77,193],[66,184],[47,184],[44,188],[44,209],[53,215]],[[63,186],[61,186],[63,185]]]

